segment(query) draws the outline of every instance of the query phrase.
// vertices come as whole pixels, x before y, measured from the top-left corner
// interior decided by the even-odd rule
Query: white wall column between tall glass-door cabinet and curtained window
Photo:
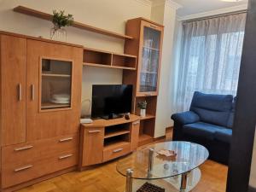
[[[165,26],[154,137],[166,135],[166,127],[172,126],[171,69],[173,65],[172,51],[176,10],[178,8],[179,5],[177,5],[177,3],[172,3],[171,1],[166,0],[154,0],[152,5],[151,20],[159,22]]]

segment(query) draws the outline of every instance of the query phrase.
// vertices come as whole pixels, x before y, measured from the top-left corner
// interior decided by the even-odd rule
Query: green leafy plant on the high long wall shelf
[[[73,24],[73,15],[65,15],[64,10],[56,11],[53,10],[52,22],[57,28],[72,26]]]

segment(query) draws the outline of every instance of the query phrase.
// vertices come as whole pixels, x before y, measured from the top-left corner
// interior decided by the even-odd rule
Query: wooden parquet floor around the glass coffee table
[[[168,140],[172,133],[167,132]],[[201,166],[201,181],[193,192],[224,192],[228,167],[212,160]],[[69,172],[19,192],[124,192],[125,177],[116,172],[116,160],[92,170]]]

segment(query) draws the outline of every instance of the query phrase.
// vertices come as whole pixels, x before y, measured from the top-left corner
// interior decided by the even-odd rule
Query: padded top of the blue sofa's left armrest
[[[198,114],[192,111],[187,111],[183,113],[174,113],[172,114],[171,118],[182,125],[193,124],[195,122],[200,121],[200,117],[198,116]]]

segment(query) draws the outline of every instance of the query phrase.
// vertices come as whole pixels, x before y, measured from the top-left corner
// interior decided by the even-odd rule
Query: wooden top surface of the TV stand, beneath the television
[[[93,128],[93,127],[105,127],[105,126],[112,126],[112,125],[120,125],[125,123],[131,123],[134,121],[139,120],[140,117],[131,114],[130,119],[126,120],[125,118],[119,118],[119,119],[96,119],[91,124],[81,124],[84,128]]]

